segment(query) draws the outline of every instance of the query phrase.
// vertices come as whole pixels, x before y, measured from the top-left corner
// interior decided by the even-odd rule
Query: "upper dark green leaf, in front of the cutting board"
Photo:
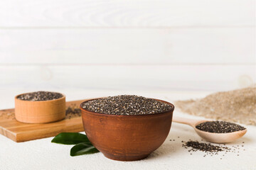
[[[64,144],[64,145],[76,145],[82,142],[90,142],[86,135],[78,132],[62,132],[55,136],[51,142]]]

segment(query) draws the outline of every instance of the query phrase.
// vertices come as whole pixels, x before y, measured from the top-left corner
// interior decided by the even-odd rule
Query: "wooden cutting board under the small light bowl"
[[[87,99],[88,100],[88,99]],[[66,109],[79,108],[82,101],[66,102]],[[53,137],[60,132],[82,132],[80,115],[66,115],[64,120],[55,123],[28,124],[20,123],[14,117],[14,108],[0,110],[0,134],[15,142],[26,142],[45,137]]]

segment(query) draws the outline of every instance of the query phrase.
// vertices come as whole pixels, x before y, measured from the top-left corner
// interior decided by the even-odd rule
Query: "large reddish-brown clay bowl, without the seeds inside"
[[[82,103],[80,109],[85,133],[92,145],[107,158],[136,161],[148,157],[166,140],[174,112],[174,105],[168,104],[172,106],[170,111],[151,115],[95,113],[82,108]]]

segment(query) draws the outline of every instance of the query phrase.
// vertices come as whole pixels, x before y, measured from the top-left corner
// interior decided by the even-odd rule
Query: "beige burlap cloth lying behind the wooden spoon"
[[[215,120],[256,125],[256,84],[245,89],[223,91],[201,99],[176,101],[182,112]]]

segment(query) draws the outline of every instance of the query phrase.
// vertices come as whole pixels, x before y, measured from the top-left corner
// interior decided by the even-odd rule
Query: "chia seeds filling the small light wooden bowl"
[[[29,94],[21,94],[17,98],[23,101],[50,101],[62,98],[63,95],[50,91],[36,91]]]

